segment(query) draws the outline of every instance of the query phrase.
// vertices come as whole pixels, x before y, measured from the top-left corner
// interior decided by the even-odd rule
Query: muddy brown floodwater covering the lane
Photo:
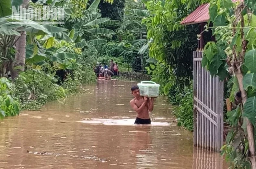
[[[99,81],[84,94],[0,121],[0,168],[227,169],[218,153],[193,147],[166,97],[155,99],[152,125],[134,125],[132,84]]]

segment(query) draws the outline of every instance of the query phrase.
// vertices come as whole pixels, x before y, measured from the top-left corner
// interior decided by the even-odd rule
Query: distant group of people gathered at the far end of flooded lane
[[[97,62],[94,72],[97,75],[97,78],[104,77],[105,79],[110,79],[113,76],[118,75],[118,64],[113,62],[111,59],[110,66],[108,67],[107,64],[103,65],[99,62]]]

